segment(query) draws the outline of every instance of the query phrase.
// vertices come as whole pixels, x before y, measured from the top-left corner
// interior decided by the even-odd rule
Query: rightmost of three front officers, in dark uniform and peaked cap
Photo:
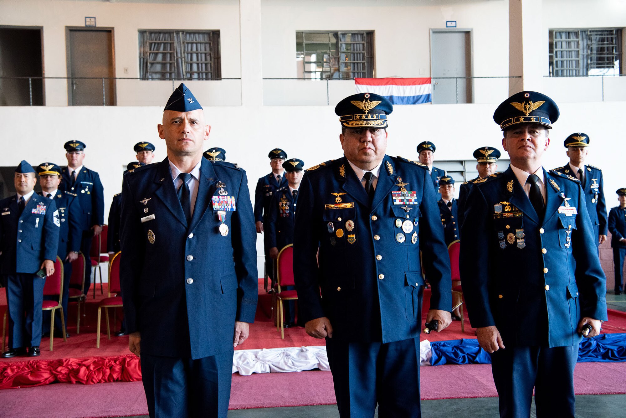
[[[606,279],[576,178],[544,170],[557,104],[522,91],[496,109],[511,165],[476,180],[461,227],[460,268],[478,344],[491,353],[501,417],[574,417],[573,371],[607,319]]]

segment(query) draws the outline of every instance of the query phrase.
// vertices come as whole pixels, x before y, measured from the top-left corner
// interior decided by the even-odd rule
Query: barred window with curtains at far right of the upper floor
[[[550,75],[620,74],[622,29],[551,29]]]

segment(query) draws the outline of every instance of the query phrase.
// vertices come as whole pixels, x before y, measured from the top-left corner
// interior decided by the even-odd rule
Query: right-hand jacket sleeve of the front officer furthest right
[[[576,230],[572,233],[572,252],[576,261],[575,277],[580,293],[581,317],[607,320],[607,278],[604,275],[596,242],[593,237],[593,225],[585,205],[585,193],[578,185],[578,215]]]

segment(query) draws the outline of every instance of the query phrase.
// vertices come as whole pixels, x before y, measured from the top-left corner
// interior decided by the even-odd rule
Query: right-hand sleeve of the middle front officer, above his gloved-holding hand
[[[424,170],[422,201],[419,212],[419,250],[422,253],[423,270],[431,285],[431,309],[452,310],[452,278],[448,246],[443,237],[439,205],[431,178]]]

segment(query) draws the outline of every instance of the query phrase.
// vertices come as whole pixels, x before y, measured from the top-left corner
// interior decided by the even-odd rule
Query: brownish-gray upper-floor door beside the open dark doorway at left
[[[115,105],[113,30],[68,28],[67,46],[69,105]]]

